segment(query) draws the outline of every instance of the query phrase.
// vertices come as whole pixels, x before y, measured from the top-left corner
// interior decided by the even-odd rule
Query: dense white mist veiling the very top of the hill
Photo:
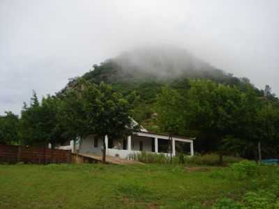
[[[185,49],[176,47],[142,47],[123,52],[114,59],[123,72],[173,79],[194,72],[211,72],[213,68]]]

